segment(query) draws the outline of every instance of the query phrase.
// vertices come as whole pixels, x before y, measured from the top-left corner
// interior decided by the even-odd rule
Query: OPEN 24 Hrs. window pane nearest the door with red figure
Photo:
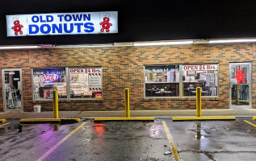
[[[217,96],[217,86],[217,64],[183,65],[183,96],[195,96],[196,87],[202,96]]]

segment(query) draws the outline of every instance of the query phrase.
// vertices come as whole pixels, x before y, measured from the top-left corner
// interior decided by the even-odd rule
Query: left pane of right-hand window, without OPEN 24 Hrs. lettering
[[[179,65],[145,67],[146,97],[178,97]]]

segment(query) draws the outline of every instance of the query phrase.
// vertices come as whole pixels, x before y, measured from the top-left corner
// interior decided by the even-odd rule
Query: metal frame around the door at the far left
[[[2,102],[3,102],[3,111],[6,111],[6,83],[5,83],[5,72],[6,71],[19,71],[19,81],[21,89],[19,89],[20,93],[20,101],[21,101],[21,111],[23,112],[23,79],[22,79],[22,68],[2,68]]]

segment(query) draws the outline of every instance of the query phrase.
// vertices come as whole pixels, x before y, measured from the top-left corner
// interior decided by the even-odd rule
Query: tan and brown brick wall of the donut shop
[[[153,47],[52,48],[0,51],[0,68],[22,68],[24,111],[33,105],[52,110],[52,101],[32,101],[31,68],[102,66],[102,101],[59,101],[60,110],[124,109],[124,89],[130,89],[131,109],[195,109],[195,98],[144,98],[145,64],[219,64],[217,98],[203,98],[203,109],[229,108],[229,63],[252,62],[252,97],[256,108],[254,43],[198,44]],[[0,79],[0,111],[2,78]]]

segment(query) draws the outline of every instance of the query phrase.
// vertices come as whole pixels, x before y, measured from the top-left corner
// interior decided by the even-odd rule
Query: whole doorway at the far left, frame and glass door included
[[[23,111],[21,68],[2,69],[2,96],[4,111]]]

